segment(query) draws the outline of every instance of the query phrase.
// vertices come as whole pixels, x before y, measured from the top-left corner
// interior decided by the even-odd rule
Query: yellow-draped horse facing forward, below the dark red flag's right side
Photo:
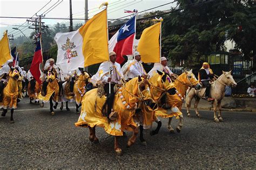
[[[54,102],[58,102],[58,97],[59,97],[59,84],[56,80],[56,75],[52,70],[49,70],[47,72],[47,79],[46,81],[48,81],[48,85],[46,88],[46,95],[42,96],[42,91],[39,93],[38,98],[39,100],[43,101],[41,103],[41,107],[44,107],[44,103],[50,101],[50,112],[51,115],[55,115],[55,112],[53,111],[53,103],[52,100]]]

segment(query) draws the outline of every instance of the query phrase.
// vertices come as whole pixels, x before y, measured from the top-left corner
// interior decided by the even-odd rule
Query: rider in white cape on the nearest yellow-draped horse
[[[109,120],[114,121],[117,118],[117,112],[112,110],[114,102],[114,86],[116,84],[121,84],[120,80],[123,79],[124,75],[121,71],[120,64],[116,62],[117,55],[115,52],[109,53],[110,61],[105,61],[100,64],[98,72],[93,75],[90,79],[90,82],[95,86],[96,83],[102,81],[104,83],[104,91],[107,95],[107,112],[106,116]],[[109,70],[110,74],[109,74]],[[110,90],[109,91],[109,82]]]

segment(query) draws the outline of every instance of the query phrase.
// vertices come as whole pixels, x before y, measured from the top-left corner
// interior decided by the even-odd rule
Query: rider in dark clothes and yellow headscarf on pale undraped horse
[[[203,97],[204,100],[207,100],[208,102],[213,101],[214,98],[209,97],[210,90],[211,90],[211,84],[210,81],[213,79],[213,71],[210,68],[210,65],[207,62],[203,63],[203,67],[200,68],[198,73],[198,79],[199,82],[203,84],[204,87],[206,87],[205,90],[205,96]]]

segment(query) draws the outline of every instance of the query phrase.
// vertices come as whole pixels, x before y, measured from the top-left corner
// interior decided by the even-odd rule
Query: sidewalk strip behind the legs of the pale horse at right
[[[191,107],[190,109],[194,110],[194,98],[191,102]],[[183,109],[186,109],[186,102],[183,103],[182,105],[182,108]],[[213,107],[212,107],[212,102],[207,102],[203,99],[200,99],[199,103],[198,103],[198,110],[213,110]],[[235,108],[235,109],[225,109],[225,108],[222,108],[223,111],[238,111],[238,112],[256,112],[256,108],[253,108],[253,107],[238,107],[238,108]]]

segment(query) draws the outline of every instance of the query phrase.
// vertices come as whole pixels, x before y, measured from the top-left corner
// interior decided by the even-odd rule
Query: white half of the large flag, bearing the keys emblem
[[[56,65],[63,73],[84,67],[83,38],[79,30],[57,33],[54,39],[58,46]]]

